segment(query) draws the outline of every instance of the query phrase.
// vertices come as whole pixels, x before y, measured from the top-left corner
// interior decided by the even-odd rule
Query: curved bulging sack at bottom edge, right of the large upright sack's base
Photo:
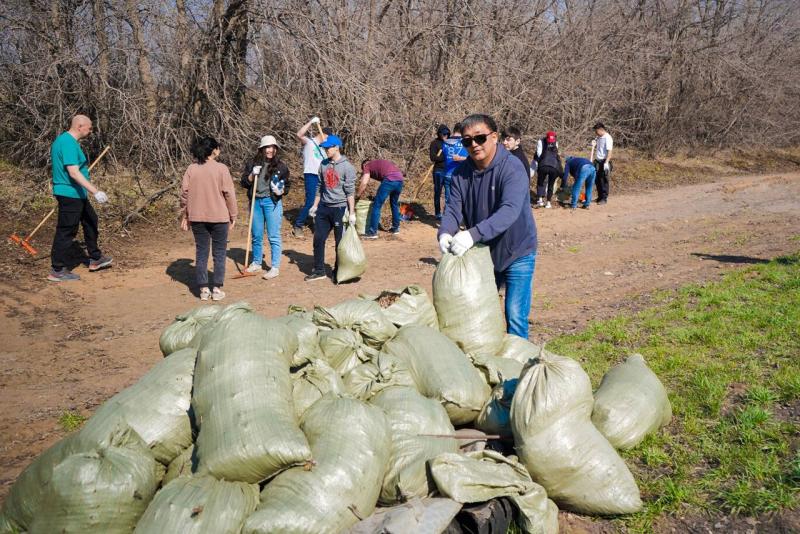
[[[261,492],[243,534],[342,532],[375,510],[391,444],[383,410],[323,397],[302,421],[315,465],[281,473]]]

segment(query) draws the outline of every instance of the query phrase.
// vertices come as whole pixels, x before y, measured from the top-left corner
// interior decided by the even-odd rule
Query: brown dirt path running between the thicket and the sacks
[[[725,269],[800,249],[800,174],[747,176],[647,194],[613,197],[588,211],[536,210],[533,338],[547,339],[635,309],[654,290],[716,278]],[[284,225],[285,230],[288,228]],[[435,229],[413,222],[397,238],[366,242],[363,281],[303,282],[311,240],[286,235],[281,276],[229,280],[226,302],[244,299],[277,316],[288,304],[329,305],[410,283],[430,290]],[[242,255],[242,229],[232,255]],[[328,251],[328,258],[332,249]],[[89,415],[161,358],[161,329],[198,305],[191,236],[134,245],[116,266],[51,284],[41,272],[0,281],[0,498],[17,474],[63,436],[67,410]],[[229,261],[229,276],[234,272]]]

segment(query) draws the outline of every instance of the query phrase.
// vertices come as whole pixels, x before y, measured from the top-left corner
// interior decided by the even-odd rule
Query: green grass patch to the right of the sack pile
[[[595,387],[640,352],[669,391],[672,423],[623,453],[645,507],[615,520],[620,527],[648,532],[678,511],[755,515],[800,504],[798,421],[787,415],[800,402],[800,254],[661,293],[652,308],[548,348],[579,360]]]

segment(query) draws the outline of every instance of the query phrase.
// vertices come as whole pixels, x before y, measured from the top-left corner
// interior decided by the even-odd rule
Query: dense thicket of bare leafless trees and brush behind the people
[[[318,114],[355,158],[412,175],[434,124],[484,111],[585,146],[800,141],[792,0],[8,0],[0,156],[44,166],[69,117],[90,152],[164,184],[198,133],[237,166]]]

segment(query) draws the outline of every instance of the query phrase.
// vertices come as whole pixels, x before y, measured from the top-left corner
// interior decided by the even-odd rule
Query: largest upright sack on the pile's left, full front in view
[[[297,336],[246,305],[234,306],[204,333],[197,355],[197,472],[257,483],[311,460],[292,405]]]

